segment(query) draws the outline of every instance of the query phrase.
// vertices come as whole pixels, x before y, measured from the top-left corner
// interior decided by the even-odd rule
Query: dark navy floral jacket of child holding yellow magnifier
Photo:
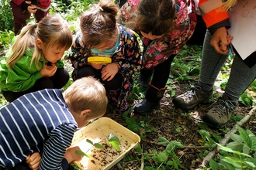
[[[137,33],[131,29],[126,29],[122,25],[118,25],[118,29],[120,43],[111,58],[112,62],[115,62],[119,66],[118,73],[123,75],[123,85],[119,99],[117,100],[119,106],[122,105],[123,100],[126,100],[133,89],[132,75],[141,69],[140,58],[142,51],[137,39],[139,37]],[[74,67],[72,73],[73,80],[76,80],[77,72],[82,66],[91,65],[91,63],[88,63],[89,56],[95,56],[95,54],[82,41],[81,33],[78,33],[68,56]]]

